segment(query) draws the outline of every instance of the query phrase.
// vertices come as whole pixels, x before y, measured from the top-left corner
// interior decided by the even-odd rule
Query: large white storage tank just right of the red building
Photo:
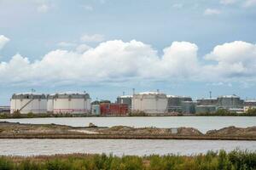
[[[143,92],[133,94],[132,111],[143,111],[147,114],[164,114],[167,110],[166,94],[159,92]]]

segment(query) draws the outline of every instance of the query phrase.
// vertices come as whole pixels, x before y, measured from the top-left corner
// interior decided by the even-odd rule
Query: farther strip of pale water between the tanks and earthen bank
[[[73,127],[88,126],[90,122],[102,127],[124,125],[130,127],[195,127],[202,133],[222,127],[256,126],[256,116],[150,116],[150,117],[64,117],[2,119],[20,123],[55,123]]]

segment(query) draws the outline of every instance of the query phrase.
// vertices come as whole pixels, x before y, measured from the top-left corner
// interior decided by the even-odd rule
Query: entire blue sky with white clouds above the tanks
[[[255,99],[255,32],[256,0],[0,0],[0,105],[32,88]]]

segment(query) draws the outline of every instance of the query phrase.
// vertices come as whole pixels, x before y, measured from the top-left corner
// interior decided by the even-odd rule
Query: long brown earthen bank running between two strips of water
[[[56,124],[0,122],[0,139],[200,139],[253,140],[256,127],[224,127],[201,133],[193,127],[71,127]]]

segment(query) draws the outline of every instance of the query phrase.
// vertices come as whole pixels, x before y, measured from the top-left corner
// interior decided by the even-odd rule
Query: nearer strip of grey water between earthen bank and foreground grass
[[[150,139],[0,139],[0,155],[35,156],[67,153],[113,155],[194,155],[207,150],[256,151],[256,141]]]

